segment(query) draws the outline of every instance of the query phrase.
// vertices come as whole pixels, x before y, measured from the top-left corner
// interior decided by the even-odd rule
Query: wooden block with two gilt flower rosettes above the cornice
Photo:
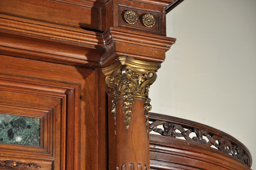
[[[165,8],[168,6],[167,4],[171,4],[172,1],[168,3],[165,1],[167,4],[155,4],[154,2],[152,1],[151,3],[151,1],[140,0],[114,1],[114,27],[165,36]]]

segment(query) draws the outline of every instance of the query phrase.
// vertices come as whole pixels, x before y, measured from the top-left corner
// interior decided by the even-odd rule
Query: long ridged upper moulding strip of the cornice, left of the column
[[[102,33],[0,14],[0,29],[84,47],[104,47]],[[37,37],[39,38],[39,37]]]

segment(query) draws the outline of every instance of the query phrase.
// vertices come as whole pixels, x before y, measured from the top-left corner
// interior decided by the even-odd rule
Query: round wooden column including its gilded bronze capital
[[[106,83],[114,91],[117,170],[149,169],[148,89],[159,68],[158,62],[119,57],[115,64],[103,69]]]

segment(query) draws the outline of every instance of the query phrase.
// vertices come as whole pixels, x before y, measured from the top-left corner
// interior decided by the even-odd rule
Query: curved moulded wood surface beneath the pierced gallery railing
[[[193,143],[170,137],[150,135],[151,169],[187,169],[187,170],[250,170],[238,160]]]

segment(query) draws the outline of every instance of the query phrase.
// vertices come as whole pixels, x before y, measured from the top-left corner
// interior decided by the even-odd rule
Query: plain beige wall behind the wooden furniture
[[[152,112],[241,141],[256,170],[256,1],[185,0],[167,14],[177,42],[149,89]]]

